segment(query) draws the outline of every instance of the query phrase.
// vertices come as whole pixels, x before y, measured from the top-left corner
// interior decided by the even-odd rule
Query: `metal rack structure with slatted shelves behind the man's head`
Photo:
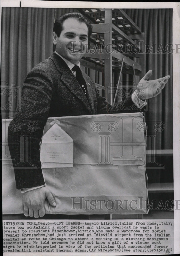
[[[144,41],[144,33],[122,9],[77,10],[91,21],[93,31],[81,64],[104,74],[105,97],[113,104],[114,95],[107,93],[108,88],[113,89],[113,70],[121,69],[122,73],[134,75],[134,79],[145,73],[143,44],[137,44],[137,40]]]

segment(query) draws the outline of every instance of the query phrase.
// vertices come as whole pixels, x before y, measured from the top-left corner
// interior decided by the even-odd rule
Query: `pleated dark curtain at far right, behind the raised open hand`
[[[165,52],[165,46],[172,44],[172,9],[123,9],[134,23],[145,33],[145,43],[155,52],[145,54],[145,67],[153,71],[150,80],[171,76],[165,88],[155,98],[147,100],[146,121],[148,131],[154,131],[155,123],[162,121],[164,130],[157,132],[157,148],[173,148],[173,79],[172,54]],[[162,51],[160,50],[162,49]],[[170,48],[169,48],[170,49]]]

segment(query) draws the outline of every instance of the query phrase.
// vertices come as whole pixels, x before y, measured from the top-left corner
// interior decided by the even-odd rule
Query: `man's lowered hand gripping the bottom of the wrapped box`
[[[43,217],[45,214],[44,202],[47,197],[49,204],[56,206],[51,192],[45,188],[37,188],[23,193],[24,215],[34,218]]]

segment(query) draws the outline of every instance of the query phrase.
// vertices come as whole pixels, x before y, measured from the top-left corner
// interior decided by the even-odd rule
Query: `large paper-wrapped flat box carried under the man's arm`
[[[2,120],[3,214],[23,213]],[[48,118],[41,143],[51,214],[147,213],[143,113]]]

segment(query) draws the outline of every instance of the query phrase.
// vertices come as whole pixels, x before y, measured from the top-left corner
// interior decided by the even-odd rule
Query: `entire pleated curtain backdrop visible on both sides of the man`
[[[1,100],[2,118],[12,118],[16,109],[19,88],[27,73],[53,52],[52,31],[54,18],[73,9],[2,8],[1,27]],[[145,42],[151,46],[172,43],[171,9],[124,9],[128,16],[145,32]],[[162,121],[165,128],[158,132],[158,148],[173,148],[173,92],[172,55],[145,54],[146,72],[152,69],[151,79],[170,74],[171,78],[160,95],[148,100],[147,121]],[[84,68],[85,69],[85,68]],[[102,82],[102,74],[86,69],[92,79]],[[18,90],[12,90],[13,86]],[[5,89],[4,89],[5,88]],[[153,131],[153,123],[148,124]]]

